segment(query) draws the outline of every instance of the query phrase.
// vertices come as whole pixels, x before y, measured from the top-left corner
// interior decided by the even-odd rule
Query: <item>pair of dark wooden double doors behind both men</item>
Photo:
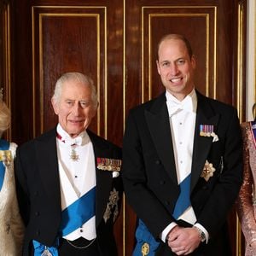
[[[155,49],[169,32],[191,41],[196,88],[236,106],[243,119],[246,1],[13,0],[5,5],[11,9],[14,55],[5,67],[11,70],[11,137],[18,144],[56,124],[50,106],[55,80],[79,71],[94,79],[98,91],[100,105],[90,129],[121,146],[129,109],[164,90]],[[135,222],[124,197],[115,225],[119,255],[131,255]],[[234,210],[230,238],[236,255]]]

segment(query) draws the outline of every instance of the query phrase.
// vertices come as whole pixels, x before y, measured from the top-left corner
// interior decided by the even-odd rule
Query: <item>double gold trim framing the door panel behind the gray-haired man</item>
[[[107,61],[107,49],[108,49],[108,44],[107,44],[107,8],[103,6],[32,6],[32,95],[33,95],[33,136],[35,137],[36,135],[36,113],[35,113],[35,93],[36,93],[36,82],[35,82],[35,73],[36,73],[36,67],[35,67],[35,11],[36,9],[103,9],[104,10],[104,137],[107,138],[108,134],[108,80],[107,80],[107,73],[108,73],[108,61]],[[96,84],[96,89],[97,89],[97,96],[98,96],[98,102],[99,102],[99,107],[97,108],[97,133],[100,134],[100,121],[101,121],[101,88],[100,88],[100,78],[101,78],[101,73],[100,73],[100,15],[95,13],[91,14],[80,14],[80,13],[39,13],[39,74],[40,74],[40,91],[44,91],[44,80],[43,80],[43,33],[42,33],[42,27],[43,27],[43,19],[44,17],[57,17],[57,16],[62,16],[62,17],[96,17],[96,34],[97,34],[97,71],[96,71],[96,77],[97,77],[97,84]],[[44,131],[44,122],[43,122],[43,117],[44,117],[44,100],[43,100],[43,95],[40,95],[40,120],[41,120],[41,125],[40,125],[40,130],[41,132]]]

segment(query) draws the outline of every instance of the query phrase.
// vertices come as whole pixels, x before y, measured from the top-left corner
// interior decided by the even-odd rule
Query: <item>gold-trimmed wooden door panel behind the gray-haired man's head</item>
[[[104,119],[101,92],[106,77],[106,9],[36,6],[32,7],[32,17],[33,88],[35,102],[40,102],[34,112],[36,124],[41,123],[40,132],[56,123],[49,103],[55,80],[61,73],[78,71],[90,75],[96,85],[99,108],[97,122],[91,128],[100,133]]]

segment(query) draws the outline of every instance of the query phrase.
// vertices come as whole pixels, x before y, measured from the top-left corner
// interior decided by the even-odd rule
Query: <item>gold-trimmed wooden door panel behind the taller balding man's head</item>
[[[183,33],[191,42],[197,60],[195,86],[201,93],[215,97],[216,84],[216,7],[143,7],[143,73],[145,100],[159,95],[159,75],[156,70],[157,44],[168,33]],[[209,78],[211,80],[209,81]],[[162,89],[161,89],[162,90]]]

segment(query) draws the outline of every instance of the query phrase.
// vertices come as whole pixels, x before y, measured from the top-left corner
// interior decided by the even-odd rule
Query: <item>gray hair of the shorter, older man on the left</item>
[[[63,73],[61,77],[57,80],[55,84],[55,92],[52,98],[55,100],[55,102],[59,102],[61,98],[61,90],[64,83],[68,81],[77,81],[81,84],[84,84],[84,86],[90,86],[91,89],[91,101],[94,108],[97,108],[98,106],[98,100],[97,100],[97,94],[96,94],[96,87],[93,83],[93,80],[83,73],[79,72],[69,72],[69,73]]]

